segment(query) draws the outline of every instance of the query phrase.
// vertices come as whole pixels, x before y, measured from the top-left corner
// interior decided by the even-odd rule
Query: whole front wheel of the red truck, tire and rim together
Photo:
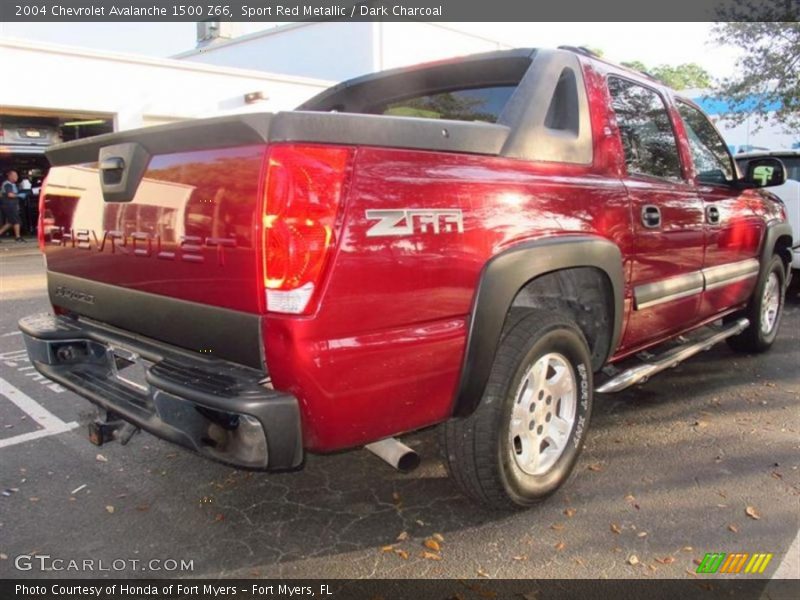
[[[778,336],[785,292],[786,271],[779,256],[773,256],[760,278],[748,307],[726,319],[730,322],[747,317],[750,325],[741,334],[728,338],[737,352],[765,352]]]

